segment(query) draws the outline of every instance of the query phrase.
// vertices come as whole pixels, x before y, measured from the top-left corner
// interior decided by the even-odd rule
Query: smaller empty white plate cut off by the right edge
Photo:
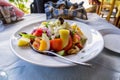
[[[104,36],[105,48],[120,53],[120,34],[108,34]]]

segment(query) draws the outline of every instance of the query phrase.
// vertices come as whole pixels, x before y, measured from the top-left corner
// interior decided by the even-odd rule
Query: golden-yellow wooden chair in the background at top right
[[[110,2],[107,2],[106,0],[101,0],[98,14],[102,15],[102,17],[106,15],[107,21],[110,21],[111,15],[115,18],[116,12],[113,12],[113,9],[115,9],[115,1],[116,0],[110,0]]]

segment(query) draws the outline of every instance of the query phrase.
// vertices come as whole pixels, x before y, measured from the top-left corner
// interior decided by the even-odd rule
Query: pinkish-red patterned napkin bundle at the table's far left
[[[11,3],[0,0],[0,19],[4,23],[11,23],[20,20],[24,12],[13,6]]]

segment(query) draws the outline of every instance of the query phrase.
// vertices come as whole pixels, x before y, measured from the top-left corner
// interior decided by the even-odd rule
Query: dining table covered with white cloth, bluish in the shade
[[[88,20],[75,19],[94,28],[102,36],[119,34],[120,29],[96,13],[87,13]],[[4,69],[8,80],[120,80],[120,53],[103,48],[88,63],[94,67],[74,65],[69,67],[44,67],[35,65],[17,57],[10,48],[10,38],[20,28],[46,20],[44,13],[32,13],[23,17],[23,20],[5,24],[0,32],[0,69]],[[117,42],[116,42],[117,44]]]

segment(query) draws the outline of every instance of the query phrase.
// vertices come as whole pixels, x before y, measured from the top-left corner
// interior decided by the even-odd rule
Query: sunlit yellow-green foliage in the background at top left
[[[30,7],[27,5],[29,0],[9,0],[9,1],[26,14],[30,12]]]

